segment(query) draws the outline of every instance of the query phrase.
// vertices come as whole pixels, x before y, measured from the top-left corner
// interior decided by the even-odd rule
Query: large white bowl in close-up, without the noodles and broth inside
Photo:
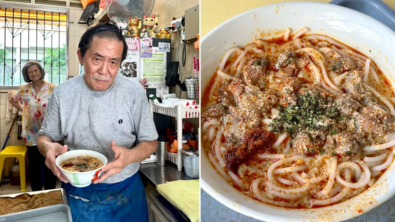
[[[293,32],[308,27],[357,48],[369,56],[395,85],[395,33],[375,19],[332,4],[292,2],[264,6],[220,24],[201,39],[201,86],[204,89],[226,50],[244,47],[258,30]],[[235,43],[235,44],[233,44]],[[341,221],[366,213],[395,194],[394,163],[375,185],[354,198],[329,207],[284,209],[263,204],[229,185],[201,155],[201,187],[227,207],[267,222]]]

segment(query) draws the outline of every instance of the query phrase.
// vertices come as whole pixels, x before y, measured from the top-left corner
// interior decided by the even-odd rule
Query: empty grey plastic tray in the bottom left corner
[[[55,204],[0,216],[0,222],[72,222],[67,204]]]

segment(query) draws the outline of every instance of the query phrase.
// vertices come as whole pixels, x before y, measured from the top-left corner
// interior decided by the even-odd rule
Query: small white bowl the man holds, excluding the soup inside
[[[64,170],[60,167],[60,164],[62,164],[64,160],[68,160],[79,155],[96,157],[102,160],[103,166],[97,168],[96,170],[91,170],[87,172],[71,172],[68,170]],[[92,180],[94,178],[97,179],[98,177],[100,177],[100,175],[102,174],[102,168],[107,164],[107,157],[96,151],[76,149],[60,154],[58,157],[56,157],[55,163],[59,170],[69,179],[71,185],[73,185],[74,187],[87,187],[92,183]]]

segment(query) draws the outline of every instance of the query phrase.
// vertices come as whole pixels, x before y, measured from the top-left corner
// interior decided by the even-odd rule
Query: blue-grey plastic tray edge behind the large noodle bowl
[[[369,15],[395,31],[395,11],[381,0],[333,0],[329,3]]]

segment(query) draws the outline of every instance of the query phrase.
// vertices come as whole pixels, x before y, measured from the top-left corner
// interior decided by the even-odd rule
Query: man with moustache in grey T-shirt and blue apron
[[[154,153],[158,134],[141,84],[117,75],[126,58],[125,39],[108,22],[88,29],[78,48],[85,73],[53,91],[38,148],[64,182],[73,221],[148,221],[137,171],[139,162]],[[112,160],[88,187],[73,187],[55,165],[56,156],[74,149],[98,151]]]

